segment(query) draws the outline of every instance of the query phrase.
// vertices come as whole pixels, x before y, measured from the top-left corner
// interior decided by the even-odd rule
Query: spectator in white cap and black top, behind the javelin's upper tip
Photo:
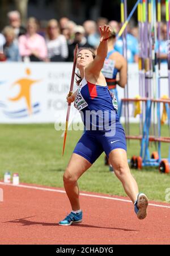
[[[85,30],[82,26],[76,26],[74,29],[75,38],[71,44],[69,44],[69,57],[67,58],[67,61],[73,61],[74,60],[74,49],[76,44],[78,44],[78,47],[91,47],[90,44],[87,43],[87,39],[84,36]]]

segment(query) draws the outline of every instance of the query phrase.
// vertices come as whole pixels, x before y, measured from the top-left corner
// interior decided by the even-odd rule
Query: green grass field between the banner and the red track
[[[138,133],[138,126],[131,125],[131,134]],[[20,182],[63,187],[62,176],[70,155],[82,131],[69,131],[65,156],[62,158],[62,131],[54,125],[0,125],[0,179],[6,171],[19,173]],[[163,126],[162,134],[168,136]],[[150,151],[155,151],[152,144]],[[139,155],[139,141],[128,143],[128,158]],[[168,156],[168,144],[162,144],[162,157]],[[158,168],[147,167],[131,170],[139,190],[150,200],[165,201],[165,189],[170,187],[170,176],[160,174]],[[101,192],[125,196],[117,177],[104,166],[104,155],[80,179],[81,191]]]

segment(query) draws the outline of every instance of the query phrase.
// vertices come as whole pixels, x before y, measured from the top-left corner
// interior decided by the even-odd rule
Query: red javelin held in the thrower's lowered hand
[[[78,44],[76,44],[75,50],[74,50],[73,71],[72,71],[72,75],[71,75],[70,92],[69,92],[68,97],[70,97],[71,94],[73,93],[74,73],[75,73],[76,55],[77,55],[77,52],[78,52]],[[68,103],[67,117],[66,117],[66,128],[65,128],[65,136],[64,136],[64,141],[63,141],[62,156],[63,156],[63,154],[64,154],[64,152],[65,152],[65,145],[66,145],[66,138],[67,138],[67,130],[68,130],[68,123],[69,123],[69,115],[70,115],[70,107],[71,107],[71,103]]]

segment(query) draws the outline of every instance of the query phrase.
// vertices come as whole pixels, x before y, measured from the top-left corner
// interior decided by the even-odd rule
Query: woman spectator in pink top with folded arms
[[[19,37],[19,52],[23,60],[43,61],[47,56],[45,39],[37,34],[37,20],[29,18],[27,34]]]

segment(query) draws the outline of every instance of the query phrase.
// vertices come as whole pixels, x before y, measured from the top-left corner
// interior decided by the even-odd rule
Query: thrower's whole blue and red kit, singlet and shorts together
[[[117,114],[117,101],[108,86],[91,84],[84,78],[76,93],[74,106],[79,110],[85,133],[76,144],[74,153],[91,164],[105,151],[126,150],[124,129]]]

